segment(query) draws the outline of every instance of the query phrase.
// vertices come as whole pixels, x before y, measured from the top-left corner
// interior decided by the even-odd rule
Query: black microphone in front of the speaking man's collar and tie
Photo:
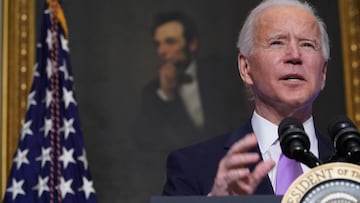
[[[290,159],[295,159],[309,168],[319,166],[321,161],[309,151],[310,140],[302,123],[295,117],[281,121],[278,128],[282,152]]]

